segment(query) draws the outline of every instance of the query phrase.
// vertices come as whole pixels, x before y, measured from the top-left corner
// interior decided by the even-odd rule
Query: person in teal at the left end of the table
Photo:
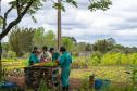
[[[35,47],[34,51],[32,52],[32,54],[29,56],[29,61],[28,61],[29,66],[35,64],[35,63],[39,63],[40,60],[39,60],[38,55],[39,55],[38,48]]]

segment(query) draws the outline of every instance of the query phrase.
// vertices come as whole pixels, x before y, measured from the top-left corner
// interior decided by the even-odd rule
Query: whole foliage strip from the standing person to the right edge
[[[75,57],[73,66],[84,67],[92,65],[133,65],[137,64],[137,53],[105,53],[92,52],[88,57]]]

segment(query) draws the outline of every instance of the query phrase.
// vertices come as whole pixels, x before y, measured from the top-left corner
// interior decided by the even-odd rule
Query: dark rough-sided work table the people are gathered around
[[[60,87],[60,75],[58,66],[32,66],[24,67],[25,82],[29,88],[39,88],[41,80],[48,88]]]

